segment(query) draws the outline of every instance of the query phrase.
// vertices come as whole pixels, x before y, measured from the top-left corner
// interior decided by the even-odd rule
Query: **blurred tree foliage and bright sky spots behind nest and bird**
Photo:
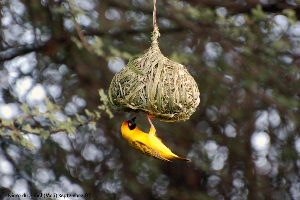
[[[145,115],[105,99],[150,46],[152,1],[0,0],[2,199],[300,199],[299,1],[156,7],[161,51],[187,66],[201,102],[186,122],[152,122],[190,163],[132,149],[121,124],[137,116],[148,132]]]

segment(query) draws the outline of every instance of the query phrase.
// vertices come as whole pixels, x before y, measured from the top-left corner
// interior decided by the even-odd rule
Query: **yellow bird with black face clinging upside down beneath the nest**
[[[190,161],[187,158],[180,158],[172,153],[172,151],[165,146],[161,139],[155,134],[155,128],[150,121],[148,114],[146,114],[151,128],[149,133],[144,133],[135,124],[135,117],[129,121],[123,122],[121,132],[122,136],[128,141],[130,146],[139,152],[148,155],[152,158],[156,158],[163,161],[170,161],[169,159],[179,159],[184,161]]]

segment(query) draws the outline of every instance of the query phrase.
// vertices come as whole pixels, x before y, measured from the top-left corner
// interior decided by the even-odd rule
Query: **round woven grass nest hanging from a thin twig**
[[[113,77],[109,103],[114,109],[148,112],[165,122],[185,121],[196,111],[200,92],[186,67],[161,53],[159,35],[155,26],[151,47]]]

